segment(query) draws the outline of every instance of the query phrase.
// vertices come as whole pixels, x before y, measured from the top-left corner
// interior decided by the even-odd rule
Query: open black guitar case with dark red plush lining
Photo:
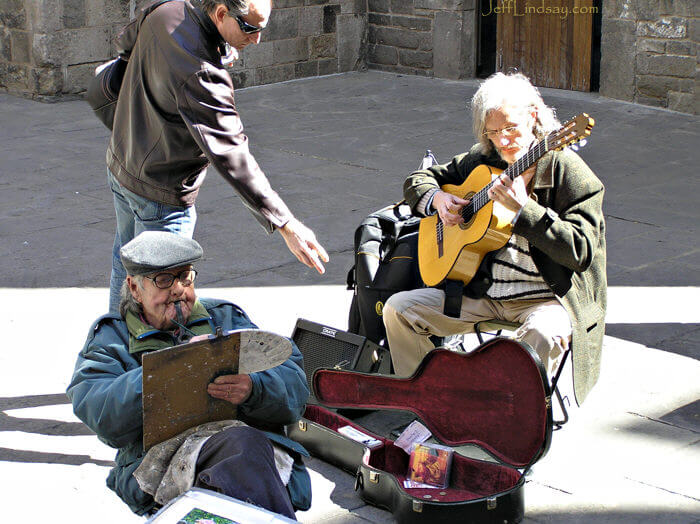
[[[399,522],[520,522],[525,473],[549,448],[551,389],[536,353],[506,338],[471,353],[431,351],[408,378],[318,369],[312,387],[322,405],[309,405],[288,435],[309,452],[356,476],[369,504]],[[440,443],[475,445],[495,461],[457,449],[444,489],[405,488],[409,455],[391,438],[368,431],[332,409],[413,412]],[[341,409],[341,411],[342,411]],[[369,448],[338,433],[352,426],[381,441]]]

